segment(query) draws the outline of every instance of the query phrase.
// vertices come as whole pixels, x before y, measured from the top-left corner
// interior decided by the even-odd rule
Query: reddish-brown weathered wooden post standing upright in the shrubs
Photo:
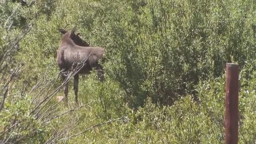
[[[225,113],[225,142],[238,142],[238,64],[226,64],[226,113]]]

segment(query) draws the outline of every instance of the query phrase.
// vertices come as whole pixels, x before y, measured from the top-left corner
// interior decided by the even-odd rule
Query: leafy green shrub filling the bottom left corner
[[[48,128],[30,112],[34,108],[31,98],[6,101],[0,112],[0,139],[13,143],[41,143],[48,136]]]

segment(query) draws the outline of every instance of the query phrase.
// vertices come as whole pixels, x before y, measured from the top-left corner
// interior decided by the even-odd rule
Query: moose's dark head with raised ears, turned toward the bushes
[[[76,27],[74,27],[70,32],[67,32],[64,29],[59,29],[59,32],[61,32],[63,35],[67,35],[68,37],[70,37],[76,45],[90,46],[87,42],[85,42],[79,37],[80,33],[75,34],[75,31]]]

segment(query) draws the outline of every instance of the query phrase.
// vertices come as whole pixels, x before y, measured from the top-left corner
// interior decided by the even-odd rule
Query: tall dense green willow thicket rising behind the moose
[[[221,76],[226,62],[243,67],[255,58],[251,0],[38,0],[26,10],[35,27],[21,43],[19,59],[32,69],[29,77],[56,65],[58,29],[77,26],[91,45],[106,49],[106,75],[119,83],[133,107],[147,97],[172,104],[195,95],[194,85]]]

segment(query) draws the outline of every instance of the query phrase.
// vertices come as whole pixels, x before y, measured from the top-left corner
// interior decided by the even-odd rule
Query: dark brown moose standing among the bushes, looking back
[[[61,38],[61,45],[59,46],[57,53],[57,64],[60,70],[67,72],[78,62],[82,62],[88,57],[87,61],[85,61],[85,65],[74,76],[75,101],[78,103],[77,93],[79,74],[88,75],[93,68],[96,68],[99,80],[104,81],[103,68],[101,64],[99,64],[99,60],[104,56],[104,48],[90,47],[88,43],[79,37],[79,33],[75,34],[75,30],[75,27],[70,32],[67,32],[64,29],[59,29],[64,35]],[[62,75],[63,80],[65,80],[66,77],[66,75]],[[64,94],[67,102],[68,83],[64,86]]]

